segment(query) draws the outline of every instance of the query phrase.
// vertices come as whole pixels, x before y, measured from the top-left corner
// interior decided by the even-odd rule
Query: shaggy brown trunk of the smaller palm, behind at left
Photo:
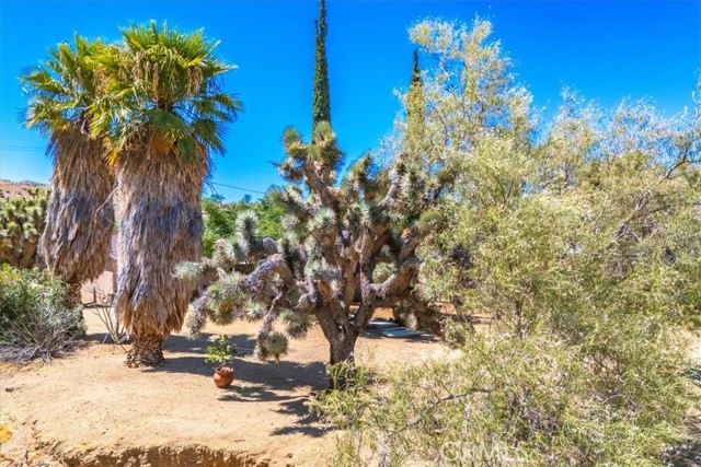
[[[55,135],[54,175],[41,254],[48,270],[69,285],[80,304],[80,287],[105,269],[114,227],[115,182],[102,140],[80,128]],[[78,291],[78,292],[76,292]]]

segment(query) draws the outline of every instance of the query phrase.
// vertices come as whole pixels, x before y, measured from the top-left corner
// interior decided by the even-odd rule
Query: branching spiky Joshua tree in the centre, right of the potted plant
[[[278,168],[290,184],[278,191],[288,212],[284,235],[277,244],[261,240],[248,213],[233,238],[216,243],[212,259],[180,265],[181,278],[209,282],[195,301],[191,330],[207,317],[221,324],[262,318],[256,352],[279,359],[287,337],[302,337],[313,317],[336,364],[353,362],[356,339],[379,306],[409,303],[420,325],[428,323],[429,308],[413,293],[415,250],[440,222],[432,208],[449,176],[415,154],[386,168],[368,154],[336,183],[343,153],[327,122],[311,143],[288,129],[284,144]],[[278,318],[285,334],[273,330]]]

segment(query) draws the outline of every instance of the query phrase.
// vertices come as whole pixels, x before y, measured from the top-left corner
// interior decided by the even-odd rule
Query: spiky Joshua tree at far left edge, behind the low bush
[[[44,230],[47,194],[30,190],[27,197],[0,203],[0,264],[15,268],[38,265],[39,235]]]

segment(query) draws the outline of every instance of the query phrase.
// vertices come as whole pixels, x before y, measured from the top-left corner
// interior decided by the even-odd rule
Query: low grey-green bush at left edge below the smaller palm
[[[67,307],[59,279],[36,269],[0,267],[0,359],[50,360],[84,334],[80,308]]]

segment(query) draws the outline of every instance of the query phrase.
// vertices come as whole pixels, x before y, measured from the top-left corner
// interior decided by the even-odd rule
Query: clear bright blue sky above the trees
[[[399,110],[412,49],[407,27],[425,17],[491,19],[538,106],[553,109],[563,86],[613,106],[651,98],[666,114],[690,106],[701,71],[701,1],[349,1],[327,0],[326,48],[334,130],[348,160],[376,148]],[[204,27],[239,69],[226,79],[245,112],[230,127],[211,182],[229,200],[280,184],[269,161],[283,155],[287,126],[309,135],[315,0],[18,1],[0,0],[0,178],[48,183],[43,136],[20,128],[18,75],[73,33],[119,38],[130,22],[166,20]],[[209,191],[208,191],[209,192]]]

